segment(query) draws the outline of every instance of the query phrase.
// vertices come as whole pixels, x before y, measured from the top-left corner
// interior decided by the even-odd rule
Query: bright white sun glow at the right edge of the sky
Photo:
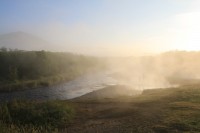
[[[173,47],[180,50],[200,50],[200,12],[177,15],[174,22]]]

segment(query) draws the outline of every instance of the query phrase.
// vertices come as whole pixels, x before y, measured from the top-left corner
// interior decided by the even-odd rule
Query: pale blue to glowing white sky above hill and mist
[[[0,34],[91,55],[200,50],[199,24],[200,0],[0,0]]]

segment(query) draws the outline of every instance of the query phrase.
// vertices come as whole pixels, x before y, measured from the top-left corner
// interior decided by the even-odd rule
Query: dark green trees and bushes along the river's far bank
[[[61,52],[0,49],[0,91],[49,86],[102,68],[100,59]]]

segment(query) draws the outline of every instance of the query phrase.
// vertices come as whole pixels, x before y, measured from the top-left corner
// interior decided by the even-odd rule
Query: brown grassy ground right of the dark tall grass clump
[[[134,97],[87,97],[74,104],[78,118],[70,133],[200,132],[199,85],[146,90]]]

